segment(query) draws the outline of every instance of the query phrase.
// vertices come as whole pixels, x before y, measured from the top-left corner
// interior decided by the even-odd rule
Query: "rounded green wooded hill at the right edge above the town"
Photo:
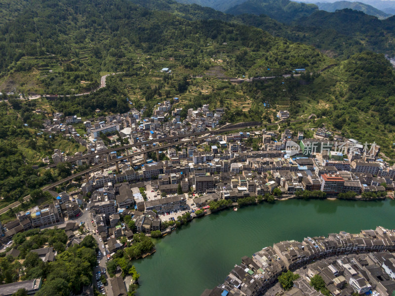
[[[390,115],[395,106],[394,82],[389,61],[362,52],[314,79],[296,96],[295,105],[306,99],[325,102],[330,107],[321,107],[316,114],[325,116],[327,124],[362,143],[375,139],[387,155],[394,155],[395,120]]]

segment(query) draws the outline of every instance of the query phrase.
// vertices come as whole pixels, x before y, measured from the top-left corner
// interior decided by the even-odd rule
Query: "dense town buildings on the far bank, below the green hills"
[[[63,192],[54,195],[55,202],[45,208],[19,213],[16,222],[5,225],[6,233],[12,235],[30,227],[73,219],[86,196],[90,197],[90,211],[104,215],[108,224],[110,216],[122,209],[162,215],[190,211],[193,205],[204,207],[221,199],[237,202],[240,198],[275,193],[288,197],[377,199],[385,198],[387,191],[394,189],[395,166],[379,158],[379,146],[343,138],[324,126],[316,129],[312,138],[305,138],[303,131],[267,128],[213,135],[210,129],[218,126],[225,112],[222,108],[212,110],[203,105],[184,111],[164,101],[154,108],[152,117],[143,117],[145,111],[132,109],[125,114],[86,120],[83,137],[65,129],[68,124],[79,122],[78,117],[67,116],[64,123],[63,114],[55,113],[53,122],[45,123],[44,132],[54,132],[51,124],[62,126],[65,136],[74,135],[88,149],[86,154],[77,152],[76,161],[55,150],[53,163],[71,159],[78,167],[115,160],[116,166],[109,164],[107,170],[102,166],[85,174],[80,191],[73,192],[72,197]],[[280,115],[287,112],[281,111]],[[241,125],[248,127],[248,123]],[[204,137],[194,136],[205,130]],[[171,138],[174,136],[181,138]],[[167,145],[160,148],[164,139]],[[190,141],[184,143],[186,140]],[[118,160],[122,157],[119,152],[106,152],[121,143],[136,146],[126,149],[122,160]],[[146,152],[152,148],[151,154]],[[142,195],[148,193],[148,188],[155,191],[151,199]],[[192,202],[186,198],[188,192]],[[152,229],[145,228],[143,232]]]

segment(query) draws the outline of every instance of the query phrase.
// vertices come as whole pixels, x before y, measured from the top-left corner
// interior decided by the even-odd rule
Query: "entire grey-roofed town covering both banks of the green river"
[[[164,236],[194,218],[226,208],[237,211],[241,204],[274,198],[393,198],[395,166],[379,158],[380,147],[374,143],[345,139],[325,127],[314,130],[314,137],[309,139],[302,131],[285,128],[278,132],[261,122],[228,124],[221,121],[226,112],[223,108],[211,110],[203,105],[185,112],[172,103],[159,103],[151,118],[142,117],[143,108],[85,121],[62,113],[45,120],[42,133],[73,138],[87,152],[66,155],[56,149],[51,158],[42,159],[46,168],[71,164],[74,174],[45,188],[53,203],[15,213],[14,221],[0,227],[5,244],[1,251],[7,249],[16,233],[35,227],[64,229],[70,245],[94,234],[99,245],[95,288],[103,294],[122,296],[127,295],[129,283],[116,277],[110,279],[110,285],[104,285],[101,277],[107,277],[106,263],[117,250],[126,242],[133,245],[135,233]],[[289,111],[278,111],[277,117],[278,122],[284,122]],[[73,127],[81,123],[85,134]],[[79,182],[75,181],[79,176]],[[56,188],[65,182],[70,183],[64,189]],[[125,222],[130,220],[132,227]],[[79,231],[81,226],[83,232]],[[393,238],[392,232],[379,227],[360,235],[340,233],[328,239],[308,238],[303,243],[281,242],[252,259],[243,258],[222,286],[203,295],[260,295],[285,269],[329,255],[393,250]],[[12,249],[7,255],[16,258],[18,252]],[[56,252],[50,248],[34,252],[43,260],[56,259]],[[142,257],[154,252],[152,249]],[[385,283],[377,275],[372,280],[368,273],[371,266],[376,274],[384,268],[384,261],[395,259],[389,253],[379,254],[316,262],[309,265],[306,276],[322,274],[336,296],[350,295],[352,289],[360,293],[366,287],[390,295],[387,286],[394,287],[395,282],[383,272],[380,279],[386,279]],[[393,268],[392,263],[388,264]],[[9,289],[14,293],[25,284],[32,285],[30,282],[14,283]],[[36,289],[35,285],[29,289]],[[292,293],[284,295],[321,295],[313,290],[300,277]],[[4,291],[0,296],[12,295]]]

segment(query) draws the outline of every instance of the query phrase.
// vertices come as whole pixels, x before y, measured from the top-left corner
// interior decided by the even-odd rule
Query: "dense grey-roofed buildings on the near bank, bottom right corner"
[[[306,237],[302,242],[282,241],[243,257],[223,284],[202,296],[258,296],[272,287],[279,275],[307,265],[286,296],[322,296],[309,283],[319,275],[334,296],[353,293],[391,296],[395,290],[395,231],[378,226],[358,234],[345,231],[327,237]],[[323,260],[325,259],[325,260]]]

